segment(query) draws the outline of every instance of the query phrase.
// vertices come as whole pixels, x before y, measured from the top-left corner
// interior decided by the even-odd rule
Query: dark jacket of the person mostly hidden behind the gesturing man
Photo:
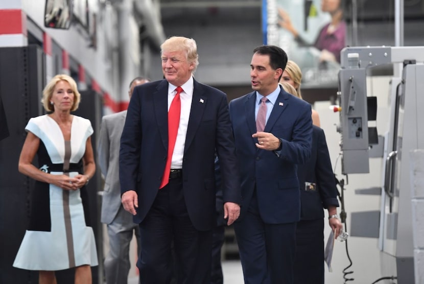
[[[313,126],[311,158],[299,165],[301,220],[324,218],[323,208],[339,206],[336,179],[333,174],[324,130]],[[305,182],[313,183],[314,190],[305,190]]]

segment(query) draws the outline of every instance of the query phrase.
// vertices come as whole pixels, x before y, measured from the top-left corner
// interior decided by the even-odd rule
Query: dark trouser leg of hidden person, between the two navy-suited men
[[[221,248],[224,244],[225,226],[216,226],[213,230],[212,244],[212,270],[210,274],[210,284],[222,284],[224,276],[221,266]]]

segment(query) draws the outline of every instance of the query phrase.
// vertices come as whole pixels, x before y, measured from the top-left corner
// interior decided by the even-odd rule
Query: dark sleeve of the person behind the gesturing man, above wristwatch
[[[328,206],[339,207],[337,201],[337,187],[328,153],[327,143],[325,141],[324,130],[319,129],[317,141],[317,162],[315,164],[315,174],[321,195],[322,205],[324,208]]]

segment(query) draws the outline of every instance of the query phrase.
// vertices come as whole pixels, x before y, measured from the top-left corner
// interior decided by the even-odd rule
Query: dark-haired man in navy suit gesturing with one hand
[[[297,164],[311,155],[312,119],[311,106],[278,84],[286,64],[287,54],[277,46],[254,49],[250,63],[254,91],[229,105],[243,196],[234,230],[249,284],[293,283],[300,218]],[[265,128],[257,131],[262,104]]]

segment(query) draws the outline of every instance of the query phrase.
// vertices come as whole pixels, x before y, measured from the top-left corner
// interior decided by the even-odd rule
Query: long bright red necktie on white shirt
[[[171,106],[169,107],[169,111],[168,111],[167,164],[165,165],[165,171],[163,172],[162,182],[160,183],[159,189],[167,185],[169,182],[169,172],[171,171],[172,153],[174,153],[175,141],[177,140],[178,125],[180,124],[180,113],[181,113],[180,92],[182,92],[182,88],[177,87],[175,90],[177,91],[177,94],[175,94],[175,97],[172,100]]]

